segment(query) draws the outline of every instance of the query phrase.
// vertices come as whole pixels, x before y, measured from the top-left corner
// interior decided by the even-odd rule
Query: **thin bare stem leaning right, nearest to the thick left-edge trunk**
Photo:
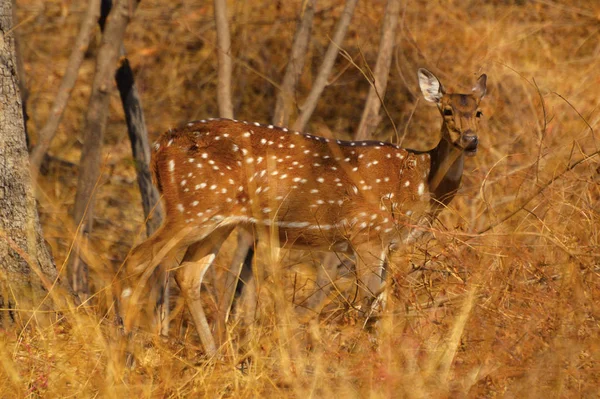
[[[50,147],[50,143],[54,139],[58,125],[62,119],[65,107],[71,98],[71,91],[77,81],[79,68],[83,62],[83,56],[85,50],[88,48],[90,42],[90,36],[92,29],[100,16],[100,0],[89,0],[88,8],[83,20],[81,21],[81,27],[79,28],[79,34],[75,39],[75,45],[73,51],[69,56],[69,62],[67,69],[56,93],[54,104],[50,110],[48,120],[38,135],[38,143],[34,147],[30,156],[31,170],[33,177],[37,175],[42,160]]]

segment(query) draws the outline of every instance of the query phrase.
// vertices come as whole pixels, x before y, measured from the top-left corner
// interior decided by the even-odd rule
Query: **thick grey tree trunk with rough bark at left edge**
[[[0,2],[0,319],[5,327],[27,322],[31,313],[25,311],[46,309],[39,304],[58,278],[29,172],[12,16],[12,2]]]

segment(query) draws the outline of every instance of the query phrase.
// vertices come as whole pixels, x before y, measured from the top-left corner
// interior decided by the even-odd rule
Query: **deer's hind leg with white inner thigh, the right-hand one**
[[[235,226],[219,227],[206,238],[191,245],[183,258],[183,262],[175,270],[175,280],[177,281],[188,309],[190,310],[192,320],[194,321],[204,350],[209,356],[212,356],[217,352],[217,346],[208,325],[208,321],[206,320],[204,307],[202,306],[202,280],[206,271],[214,263],[221,245],[234,227]],[[217,313],[218,322],[216,325],[224,327],[225,323],[224,321],[221,321],[221,318],[224,315],[219,314],[219,312]],[[222,342],[224,335],[224,331],[217,331],[219,344]]]

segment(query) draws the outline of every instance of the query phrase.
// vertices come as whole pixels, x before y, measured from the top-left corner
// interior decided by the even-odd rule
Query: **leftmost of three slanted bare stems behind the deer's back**
[[[312,30],[316,0],[304,0],[303,5],[305,6],[304,14],[298,23],[294,44],[292,44],[290,61],[287,64],[281,89],[275,103],[275,113],[273,114],[273,124],[275,125],[286,126],[288,124],[294,91],[296,90],[296,85],[302,74],[302,68],[306,60],[306,51],[308,50],[308,42]]]

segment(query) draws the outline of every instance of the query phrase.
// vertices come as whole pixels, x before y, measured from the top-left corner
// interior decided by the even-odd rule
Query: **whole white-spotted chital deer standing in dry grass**
[[[458,190],[464,154],[477,151],[486,75],[469,94],[446,93],[425,69],[418,78],[443,117],[441,140],[429,151],[221,119],[164,133],[152,167],[166,218],[127,263],[125,328],[132,327],[132,305],[148,292],[144,286],[152,287],[148,279],[161,264],[175,270],[205,350],[213,354],[200,286],[238,225],[267,227],[257,231],[275,231],[285,247],[354,252],[358,298],[369,305],[383,284],[387,252],[426,231]]]

